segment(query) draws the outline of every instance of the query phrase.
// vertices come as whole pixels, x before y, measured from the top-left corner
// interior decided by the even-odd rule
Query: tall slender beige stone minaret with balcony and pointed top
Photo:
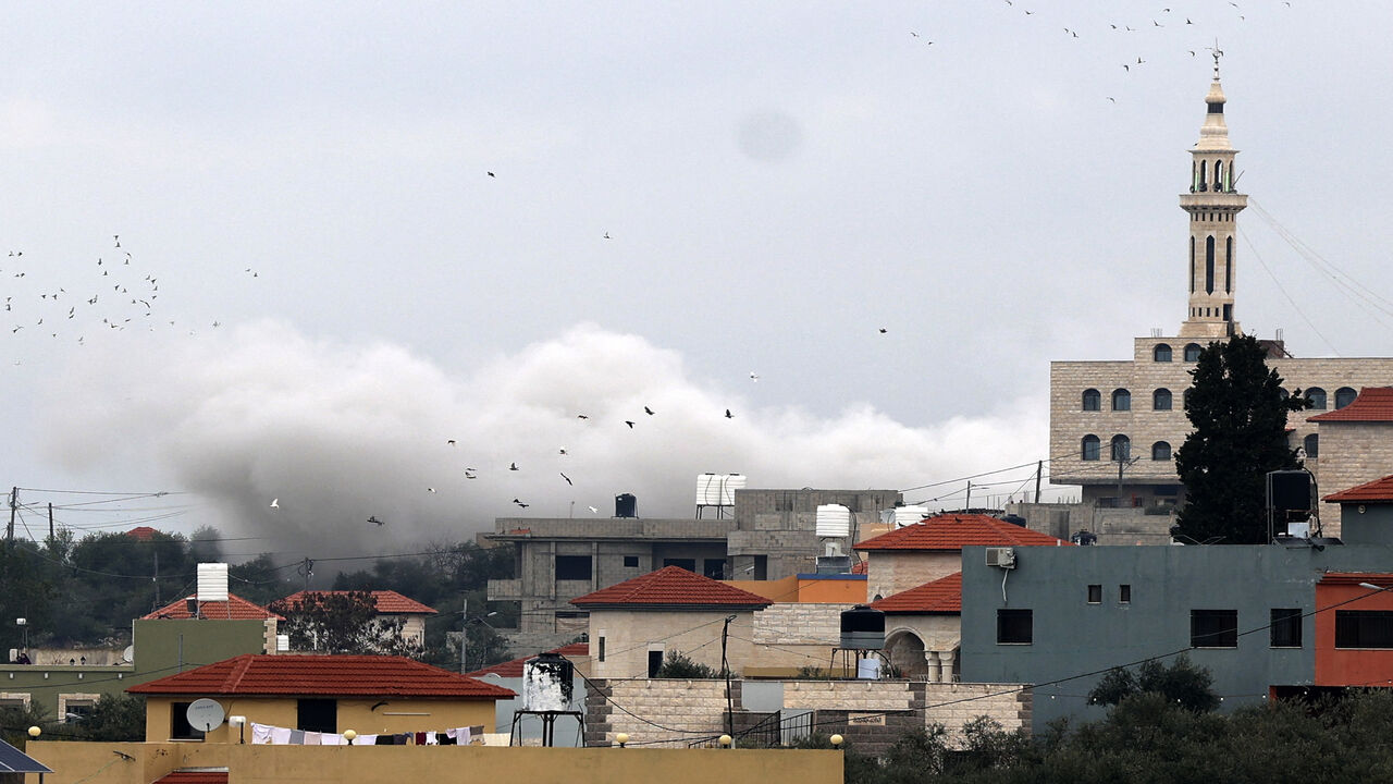
[[[1180,194],[1180,208],[1190,213],[1190,312],[1180,325],[1181,338],[1227,338],[1241,335],[1233,318],[1233,292],[1237,285],[1234,257],[1237,216],[1248,206],[1248,197],[1233,186],[1233,158],[1238,153],[1229,144],[1229,126],[1223,120],[1223,86],[1219,85],[1216,46],[1215,80],[1205,96],[1205,123],[1199,142],[1190,151],[1190,193]]]

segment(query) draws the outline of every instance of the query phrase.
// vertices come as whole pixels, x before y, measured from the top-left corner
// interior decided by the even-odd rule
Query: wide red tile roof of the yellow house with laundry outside
[[[135,695],[508,699],[511,691],[403,656],[247,653],[127,689]]]

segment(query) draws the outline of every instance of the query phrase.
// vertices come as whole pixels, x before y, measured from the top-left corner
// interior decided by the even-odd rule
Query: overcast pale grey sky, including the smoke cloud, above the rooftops
[[[1393,308],[1350,292],[1393,297],[1390,21],[17,6],[0,483],[79,529],[351,552],[625,491],[684,516],[701,472],[912,488],[1048,459],[1049,360],[1127,359],[1184,315],[1177,194],[1216,38],[1256,205],[1240,321],[1302,357],[1389,356]],[[111,516],[39,490],[184,495]]]

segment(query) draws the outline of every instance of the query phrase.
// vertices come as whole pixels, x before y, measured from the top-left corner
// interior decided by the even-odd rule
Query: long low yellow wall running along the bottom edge
[[[123,759],[118,751],[131,759]],[[39,741],[46,784],[148,784],[181,767],[227,767],[228,784],[841,784],[837,751],[542,749],[489,746],[251,746]],[[26,781],[38,783],[38,774]]]

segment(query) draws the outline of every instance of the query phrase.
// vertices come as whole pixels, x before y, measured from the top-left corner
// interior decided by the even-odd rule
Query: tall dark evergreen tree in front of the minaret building
[[[1268,541],[1266,474],[1301,467],[1287,445],[1287,413],[1309,403],[1287,396],[1282,377],[1250,335],[1209,343],[1190,371],[1185,416],[1194,431],[1176,452],[1185,485],[1178,533],[1197,543]]]

